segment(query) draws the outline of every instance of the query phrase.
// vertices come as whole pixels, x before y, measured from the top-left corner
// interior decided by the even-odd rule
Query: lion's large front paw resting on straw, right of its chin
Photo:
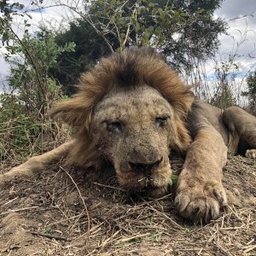
[[[227,197],[222,183],[197,183],[193,187],[177,188],[175,204],[183,218],[209,222],[218,218],[220,207],[227,205]]]

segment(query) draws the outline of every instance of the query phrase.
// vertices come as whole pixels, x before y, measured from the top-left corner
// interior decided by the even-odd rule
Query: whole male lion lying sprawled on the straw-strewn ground
[[[256,118],[241,108],[222,112],[195,99],[154,49],[132,48],[84,73],[79,92],[53,114],[74,128],[73,140],[32,157],[0,177],[32,175],[67,153],[73,164],[103,170],[111,162],[127,190],[166,193],[170,152],[186,154],[175,203],[193,220],[218,217],[227,203],[222,168],[228,148],[256,155]]]

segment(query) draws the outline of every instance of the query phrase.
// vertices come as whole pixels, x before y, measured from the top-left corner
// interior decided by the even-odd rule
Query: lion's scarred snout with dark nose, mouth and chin
[[[166,191],[172,171],[165,139],[151,127],[140,127],[130,134],[116,145],[113,154],[119,184],[130,191]]]

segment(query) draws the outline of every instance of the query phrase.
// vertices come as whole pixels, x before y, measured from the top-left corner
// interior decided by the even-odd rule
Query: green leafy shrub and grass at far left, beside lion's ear
[[[25,19],[20,37],[10,26],[13,15],[20,13],[8,4],[3,4],[1,10],[4,15],[0,17],[0,37],[6,49],[5,61],[11,66],[11,91],[0,96],[0,156],[2,160],[12,160],[44,150],[44,138],[50,141],[59,132],[55,123],[46,121],[47,111],[62,97],[61,87],[49,75],[49,68],[57,64],[58,55],[73,51],[75,44],[58,46],[52,33],[44,39],[37,38],[29,32],[31,25]]]

